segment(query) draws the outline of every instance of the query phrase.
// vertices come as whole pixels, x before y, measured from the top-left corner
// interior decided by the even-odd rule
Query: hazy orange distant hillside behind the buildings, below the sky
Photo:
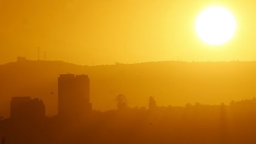
[[[130,106],[186,103],[220,104],[256,96],[256,62],[148,62],[80,66],[60,61],[31,61],[0,65],[0,115],[9,116],[12,96],[39,97],[47,115],[57,114],[57,77],[87,74],[93,109],[115,109],[124,94]],[[53,92],[53,94],[50,94]]]

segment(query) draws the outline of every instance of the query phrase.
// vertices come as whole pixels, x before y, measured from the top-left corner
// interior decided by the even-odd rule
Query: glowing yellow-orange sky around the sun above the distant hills
[[[218,47],[197,38],[194,23],[211,5],[237,20]],[[256,1],[0,0],[0,63],[17,56],[81,65],[161,60],[256,60]]]

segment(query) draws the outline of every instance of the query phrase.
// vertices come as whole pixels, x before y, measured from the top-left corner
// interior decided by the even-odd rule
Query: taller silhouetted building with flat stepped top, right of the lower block
[[[58,93],[60,117],[77,117],[92,111],[88,75],[60,75]]]

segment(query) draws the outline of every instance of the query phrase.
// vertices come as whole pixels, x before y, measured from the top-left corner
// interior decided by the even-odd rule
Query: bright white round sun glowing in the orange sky
[[[234,36],[236,20],[224,7],[209,7],[197,17],[196,32],[206,44],[221,45]]]

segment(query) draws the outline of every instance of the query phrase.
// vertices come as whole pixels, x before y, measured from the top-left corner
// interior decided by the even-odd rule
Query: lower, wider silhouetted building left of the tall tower
[[[11,99],[11,119],[13,120],[43,120],[45,106],[42,100],[31,97],[13,97]]]

